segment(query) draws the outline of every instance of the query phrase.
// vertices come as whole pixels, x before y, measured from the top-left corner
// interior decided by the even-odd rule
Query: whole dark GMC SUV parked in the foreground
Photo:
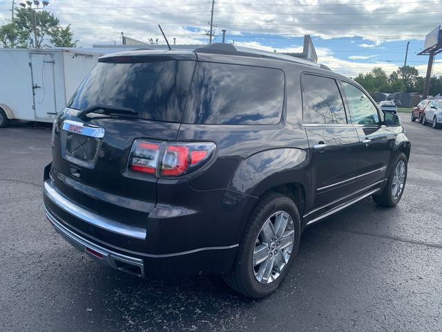
[[[396,205],[409,157],[398,117],[325,66],[230,44],[128,51],[57,116],[44,207],[108,266],[265,297],[308,225],[368,196]]]

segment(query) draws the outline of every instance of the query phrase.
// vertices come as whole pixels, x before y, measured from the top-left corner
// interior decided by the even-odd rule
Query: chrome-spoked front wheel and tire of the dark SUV
[[[401,168],[399,165],[403,163],[403,179],[402,179],[402,186],[399,185],[396,182],[396,172],[398,168]],[[405,183],[407,183],[407,174],[408,174],[408,168],[407,168],[408,160],[407,157],[403,152],[399,154],[396,157],[396,160],[394,160],[392,170],[390,171],[390,175],[388,176],[387,183],[385,183],[385,187],[381,194],[373,195],[373,200],[378,204],[382,206],[386,206],[387,208],[392,208],[401,201],[401,197],[403,194],[403,191],[405,190]],[[397,192],[394,191],[396,187],[393,187],[396,184],[399,185],[400,190]]]

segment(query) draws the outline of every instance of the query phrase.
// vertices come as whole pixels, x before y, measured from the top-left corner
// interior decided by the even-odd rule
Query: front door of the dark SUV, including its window
[[[378,107],[365,91],[349,82],[340,84],[349,109],[349,120],[356,128],[360,141],[357,187],[361,190],[386,177],[395,136],[382,123]]]

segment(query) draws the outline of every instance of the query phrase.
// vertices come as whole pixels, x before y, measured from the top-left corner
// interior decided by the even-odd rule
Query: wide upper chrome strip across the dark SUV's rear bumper
[[[90,223],[103,230],[124,235],[126,237],[141,240],[146,239],[146,230],[144,228],[125,225],[124,223],[119,223],[118,221],[105,218],[104,216],[100,216],[99,214],[81,208],[59,194],[48,180],[44,181],[44,193],[48,196],[50,201],[61,208],[61,210],[72,214],[86,223]]]

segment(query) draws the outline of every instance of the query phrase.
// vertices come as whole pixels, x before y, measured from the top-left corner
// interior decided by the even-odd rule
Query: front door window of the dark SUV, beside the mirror
[[[379,123],[378,109],[367,95],[356,86],[347,82],[341,82],[350,111],[353,124],[377,124]]]

